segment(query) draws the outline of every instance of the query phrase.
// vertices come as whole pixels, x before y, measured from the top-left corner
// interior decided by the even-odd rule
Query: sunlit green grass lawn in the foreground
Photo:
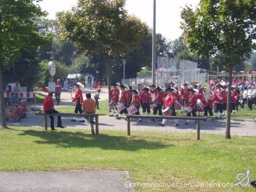
[[[204,134],[204,140],[197,141],[193,133],[134,131],[134,135],[11,127],[0,131],[0,171],[128,170],[138,192],[256,191],[253,187],[211,187],[218,182],[222,186],[236,183],[236,174],[246,169],[256,179],[255,137],[232,136],[230,140]],[[143,183],[169,187],[140,187]],[[186,183],[188,188],[181,187]]]

